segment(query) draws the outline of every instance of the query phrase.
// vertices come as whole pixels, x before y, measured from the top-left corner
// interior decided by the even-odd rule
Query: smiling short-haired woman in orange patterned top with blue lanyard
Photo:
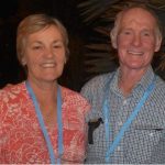
[[[63,24],[45,14],[18,28],[16,51],[28,79],[0,91],[0,163],[82,163],[88,102],[58,85],[68,57]]]

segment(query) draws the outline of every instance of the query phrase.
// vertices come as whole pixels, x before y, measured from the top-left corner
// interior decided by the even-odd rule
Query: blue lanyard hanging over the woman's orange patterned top
[[[43,120],[43,116],[41,113],[37,100],[35,98],[35,95],[33,92],[33,89],[31,88],[29,81],[25,81],[28,91],[30,94],[30,97],[33,100],[34,107],[35,107],[35,112],[38,119],[38,123],[41,127],[41,130],[43,132],[44,139],[46,141],[46,145],[48,148],[48,153],[50,153],[50,158],[51,158],[51,164],[55,164],[55,154],[54,154],[54,150],[53,150],[53,145],[51,143],[51,139],[48,136],[48,133],[46,131],[45,124],[44,124],[44,120]],[[61,88],[57,88],[57,125],[58,125],[58,155],[59,157],[63,154],[63,123],[62,123],[62,94],[61,94]],[[57,158],[57,164],[61,164],[61,158]]]

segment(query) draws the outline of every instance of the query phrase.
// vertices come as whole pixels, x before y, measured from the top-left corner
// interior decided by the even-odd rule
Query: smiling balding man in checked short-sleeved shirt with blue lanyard
[[[120,67],[81,89],[92,106],[86,163],[165,163],[165,82],[151,66],[158,20],[144,7],[124,9],[110,36]]]

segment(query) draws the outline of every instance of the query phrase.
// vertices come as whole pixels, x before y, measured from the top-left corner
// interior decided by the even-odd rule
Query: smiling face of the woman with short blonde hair
[[[52,25],[28,36],[22,62],[28,66],[28,78],[54,81],[66,63],[65,46],[59,30]]]

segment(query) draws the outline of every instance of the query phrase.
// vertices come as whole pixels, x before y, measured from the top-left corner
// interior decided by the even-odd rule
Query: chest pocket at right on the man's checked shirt
[[[127,158],[132,160],[131,163],[150,162],[163,132],[160,125],[133,125],[125,139]]]

